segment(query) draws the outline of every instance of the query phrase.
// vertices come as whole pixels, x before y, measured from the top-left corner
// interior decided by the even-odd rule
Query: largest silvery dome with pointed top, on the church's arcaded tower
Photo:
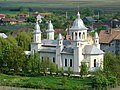
[[[80,18],[80,13],[78,12],[77,18],[73,22],[73,25],[71,27],[71,30],[86,30],[83,20]]]

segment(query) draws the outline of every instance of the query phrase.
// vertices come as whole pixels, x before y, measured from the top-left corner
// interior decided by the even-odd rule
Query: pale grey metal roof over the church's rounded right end
[[[83,54],[103,54],[104,52],[98,49],[95,45],[86,45],[83,50]]]

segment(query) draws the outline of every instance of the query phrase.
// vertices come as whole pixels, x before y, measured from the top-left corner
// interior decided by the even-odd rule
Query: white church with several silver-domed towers
[[[80,72],[81,62],[87,63],[89,71],[103,68],[104,52],[100,50],[99,36],[96,32],[94,43],[88,43],[87,28],[80,18],[79,12],[69,33],[70,40],[64,40],[61,34],[54,40],[53,25],[49,21],[46,30],[47,39],[41,40],[42,34],[37,21],[34,29],[34,42],[31,43],[31,52],[37,51],[41,60],[45,56],[49,57],[52,62],[58,64],[58,68],[62,67],[65,71],[71,67],[73,72]]]

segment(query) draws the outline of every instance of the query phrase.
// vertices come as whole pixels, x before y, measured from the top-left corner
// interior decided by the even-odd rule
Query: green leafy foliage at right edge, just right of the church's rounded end
[[[104,72],[111,73],[120,79],[120,56],[112,53],[106,53],[104,56]]]

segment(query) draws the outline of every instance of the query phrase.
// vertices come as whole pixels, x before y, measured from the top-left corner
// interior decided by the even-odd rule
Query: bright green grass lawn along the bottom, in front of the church
[[[66,85],[62,84],[61,76],[22,77],[0,74],[0,84],[6,86],[47,89],[73,89],[76,86],[90,86],[90,79],[67,78]]]

